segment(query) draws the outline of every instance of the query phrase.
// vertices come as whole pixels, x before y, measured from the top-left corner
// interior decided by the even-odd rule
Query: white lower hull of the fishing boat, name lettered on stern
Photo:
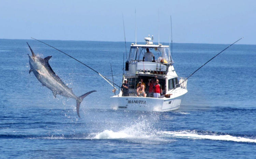
[[[137,111],[171,111],[180,108],[184,94],[170,96],[170,98],[149,98],[134,96],[112,96],[111,108],[115,110],[137,110]]]

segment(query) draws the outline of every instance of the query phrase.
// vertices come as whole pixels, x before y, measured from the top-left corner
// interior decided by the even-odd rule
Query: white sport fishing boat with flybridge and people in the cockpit
[[[132,43],[130,53],[125,63],[125,74],[129,84],[129,96],[123,96],[123,91],[112,96],[112,109],[138,111],[170,111],[180,108],[182,99],[187,93],[187,80],[178,77],[173,67],[170,47],[158,43],[153,44],[153,36],[144,38],[145,45]],[[152,61],[144,61],[144,54],[149,50],[154,54]],[[137,84],[143,79],[146,97],[138,96]],[[159,80],[162,88],[160,98],[149,96],[148,82]]]

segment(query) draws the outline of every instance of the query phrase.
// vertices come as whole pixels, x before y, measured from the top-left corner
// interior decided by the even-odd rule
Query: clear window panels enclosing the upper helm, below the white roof
[[[155,62],[168,64],[171,62],[169,47],[131,47],[129,61],[142,61],[145,53],[152,52]],[[163,60],[162,60],[163,59]],[[153,58],[151,59],[153,61]]]

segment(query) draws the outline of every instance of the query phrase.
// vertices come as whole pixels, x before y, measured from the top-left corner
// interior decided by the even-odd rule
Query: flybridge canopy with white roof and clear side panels
[[[160,45],[131,45],[130,53],[127,61],[142,61],[146,49],[149,49],[155,55],[156,63],[170,64],[172,57],[170,54],[169,46]]]

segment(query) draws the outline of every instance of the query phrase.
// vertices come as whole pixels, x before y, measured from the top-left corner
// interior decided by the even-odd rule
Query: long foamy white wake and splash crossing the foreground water
[[[127,127],[124,130],[104,130],[99,133],[73,135],[0,135],[0,138],[48,139],[48,140],[123,140],[131,143],[166,144],[177,139],[216,140],[242,143],[256,143],[256,137],[246,135],[236,136],[212,131],[182,130],[182,131],[140,131],[136,127]]]

